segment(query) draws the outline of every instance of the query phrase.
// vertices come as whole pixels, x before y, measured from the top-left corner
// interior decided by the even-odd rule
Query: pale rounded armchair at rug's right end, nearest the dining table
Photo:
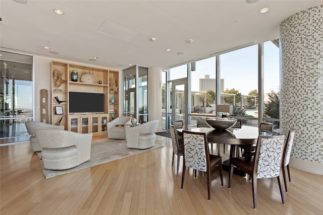
[[[132,127],[126,126],[127,146],[133,149],[152,147],[155,144],[158,123],[159,120],[152,120]]]

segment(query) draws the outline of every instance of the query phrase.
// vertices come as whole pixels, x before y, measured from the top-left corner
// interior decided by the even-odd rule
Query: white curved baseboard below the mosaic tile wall
[[[323,164],[290,157],[289,166],[309,173],[323,175]]]

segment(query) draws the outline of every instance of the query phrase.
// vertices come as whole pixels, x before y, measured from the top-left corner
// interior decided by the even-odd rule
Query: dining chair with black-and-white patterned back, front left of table
[[[210,200],[211,170],[219,168],[221,185],[223,186],[222,158],[216,155],[210,155],[205,132],[192,132],[183,130],[184,140],[184,163],[182,173],[182,186],[184,185],[186,167],[206,172],[207,175],[207,193]]]

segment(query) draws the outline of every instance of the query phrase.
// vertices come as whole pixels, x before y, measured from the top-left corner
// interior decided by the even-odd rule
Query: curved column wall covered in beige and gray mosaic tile
[[[291,156],[323,163],[323,5],[281,23],[280,122],[295,129]]]

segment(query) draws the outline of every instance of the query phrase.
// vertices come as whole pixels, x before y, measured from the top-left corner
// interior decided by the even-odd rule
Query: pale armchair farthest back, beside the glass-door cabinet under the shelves
[[[120,116],[107,123],[109,139],[126,139],[125,124],[131,124],[130,116]]]

